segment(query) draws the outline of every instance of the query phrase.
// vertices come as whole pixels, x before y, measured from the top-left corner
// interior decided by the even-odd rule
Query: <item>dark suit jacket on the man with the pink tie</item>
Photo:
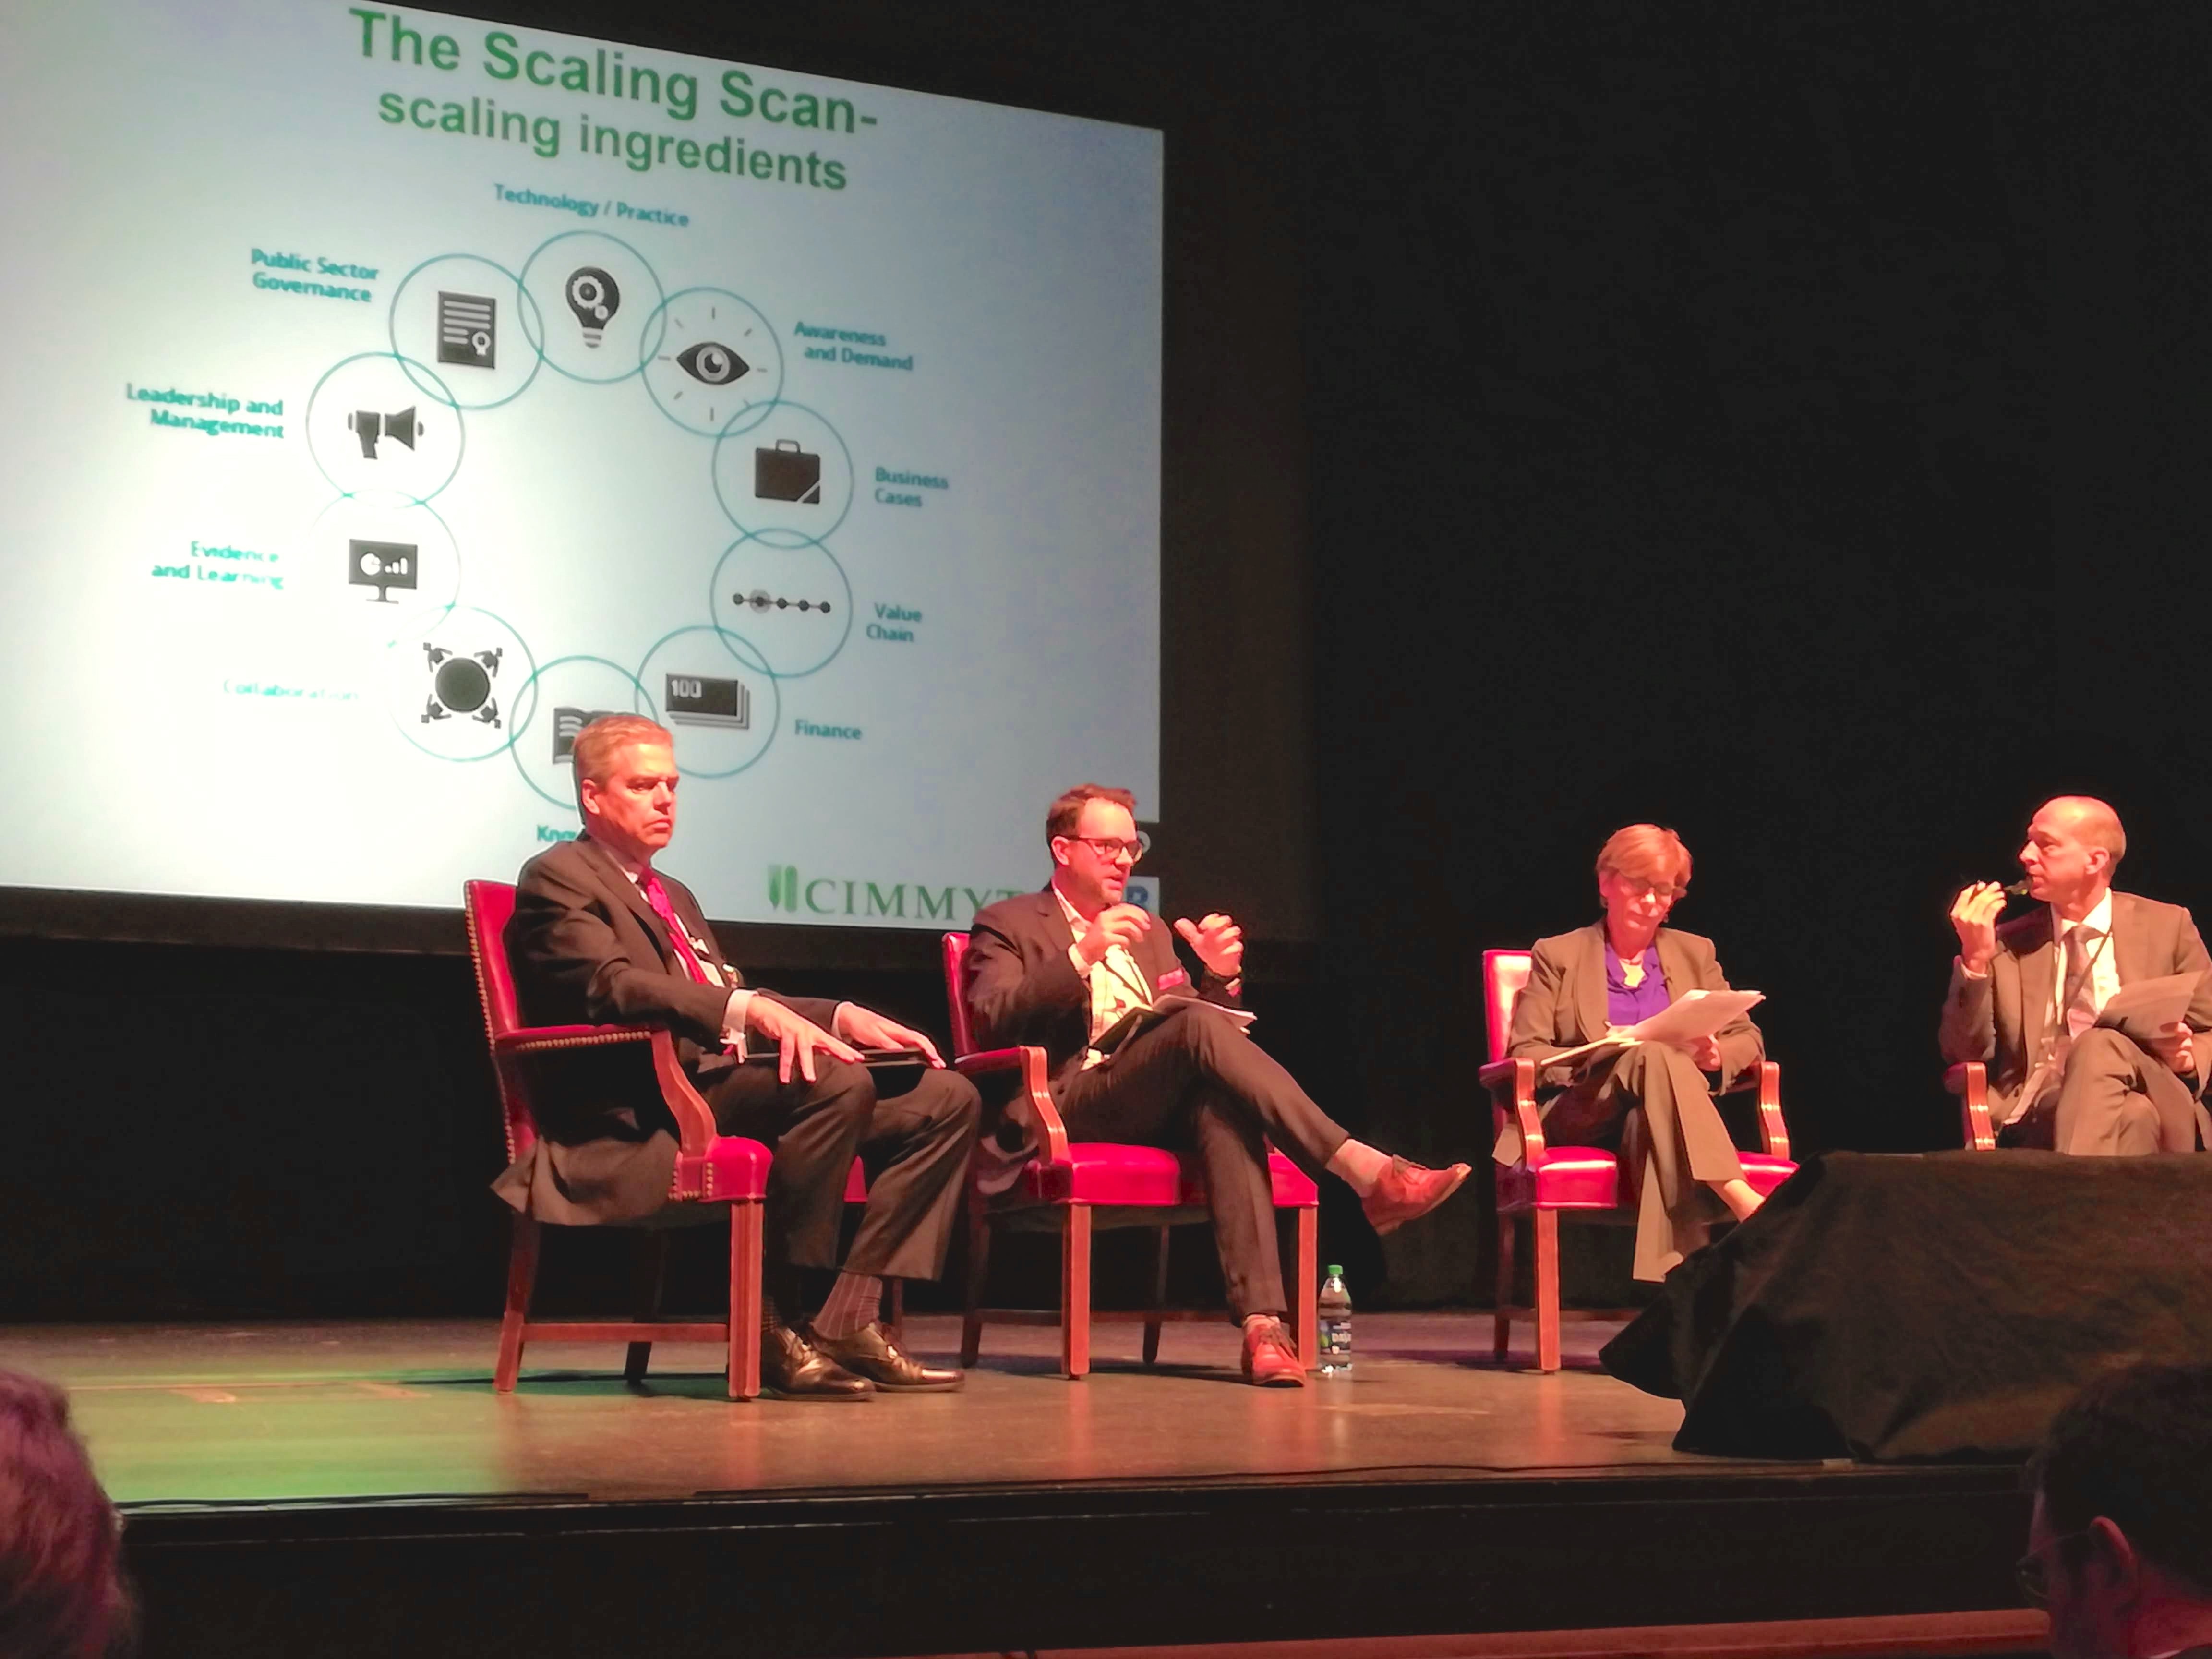
[[[741,987],[743,975],[723,958],[699,900],[666,872],[661,885],[670,909],[706,942],[708,960],[730,987]],[[684,971],[668,925],[588,836],[546,847],[522,867],[507,960],[526,1024],[666,1026],[701,1086],[732,1064],[721,1051],[730,987],[699,984]],[[825,1029],[836,1018],[827,998],[774,1000]],[[571,1051],[542,1062],[533,1102],[542,1139],[493,1183],[502,1199],[571,1225],[635,1221],[661,1206],[675,1175],[675,1119],[635,1048]]]

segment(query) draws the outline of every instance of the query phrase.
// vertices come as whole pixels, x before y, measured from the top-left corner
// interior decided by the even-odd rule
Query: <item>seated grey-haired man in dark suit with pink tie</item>
[[[584,834],[538,854],[515,885],[507,958],[531,1024],[655,1024],[726,1135],[774,1150],[768,1177],[765,1391],[865,1398],[874,1389],[951,1389],[960,1374],[898,1349],[876,1310],[885,1279],[945,1272],[962,1177],[975,1146],[975,1086],[936,1046],[880,1013],[745,984],[697,900],[653,867],[675,832],[675,739],[637,714],[611,714],[575,739]],[[748,1064],[774,1044],[776,1064]],[[909,1048],[914,1071],[876,1073],[858,1048]],[[911,1079],[902,1093],[898,1082]],[[546,1097],[542,1139],[495,1183],[518,1210],[566,1223],[635,1221],[666,1201],[672,1119],[615,1073],[566,1064]],[[805,1329],[796,1270],[836,1267],[854,1155],[869,1170],[867,1210],[845,1270]]]

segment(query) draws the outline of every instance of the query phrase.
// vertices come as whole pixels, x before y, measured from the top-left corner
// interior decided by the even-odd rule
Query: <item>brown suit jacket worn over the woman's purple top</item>
[[[1659,947],[1659,971],[1668,998],[1683,991],[1725,991],[1728,975],[1712,940],[1661,927],[1652,940]],[[1528,984],[1513,1004],[1513,1031],[1506,1037],[1506,1060],[1542,1060],[1544,1055],[1597,1042],[1606,1035],[1606,925],[1590,922],[1573,933],[1540,938],[1528,953]],[[1750,1082],[1767,1057],[1765,1037],[1747,1013],[1736,1015],[1717,1033],[1721,1040],[1721,1086],[1728,1093]],[[1584,1064],[1584,1082],[1601,1082],[1608,1057]],[[1537,1088],[1557,1095],[1575,1082],[1575,1066],[1544,1066]],[[1502,1164],[1520,1159],[1520,1126],[1506,1124],[1495,1155]]]

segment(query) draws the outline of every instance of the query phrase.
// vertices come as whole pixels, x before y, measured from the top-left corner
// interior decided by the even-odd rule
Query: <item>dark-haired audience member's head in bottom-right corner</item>
[[[2135,1365],[2051,1422],[2020,1588],[2057,1659],[2212,1659],[2212,1365]]]

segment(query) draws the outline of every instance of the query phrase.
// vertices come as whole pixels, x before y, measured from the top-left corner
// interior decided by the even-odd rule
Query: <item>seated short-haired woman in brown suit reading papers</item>
[[[1597,854],[1606,918],[1537,940],[1506,1055],[1542,1062],[1648,1020],[1683,991],[1725,991],[1712,940],[1663,927],[1688,887],[1681,836],[1655,823],[1615,832]],[[1637,1279],[1663,1279],[1705,1243],[1708,1223],[1759,1208],[1712,1097],[1754,1077],[1761,1060],[1759,1026],[1736,1015],[1683,1048],[1632,1042],[1537,1073],[1544,1139],[1617,1150],[1624,1172],[1641,1177]],[[1495,1157],[1520,1159],[1511,1124]]]

